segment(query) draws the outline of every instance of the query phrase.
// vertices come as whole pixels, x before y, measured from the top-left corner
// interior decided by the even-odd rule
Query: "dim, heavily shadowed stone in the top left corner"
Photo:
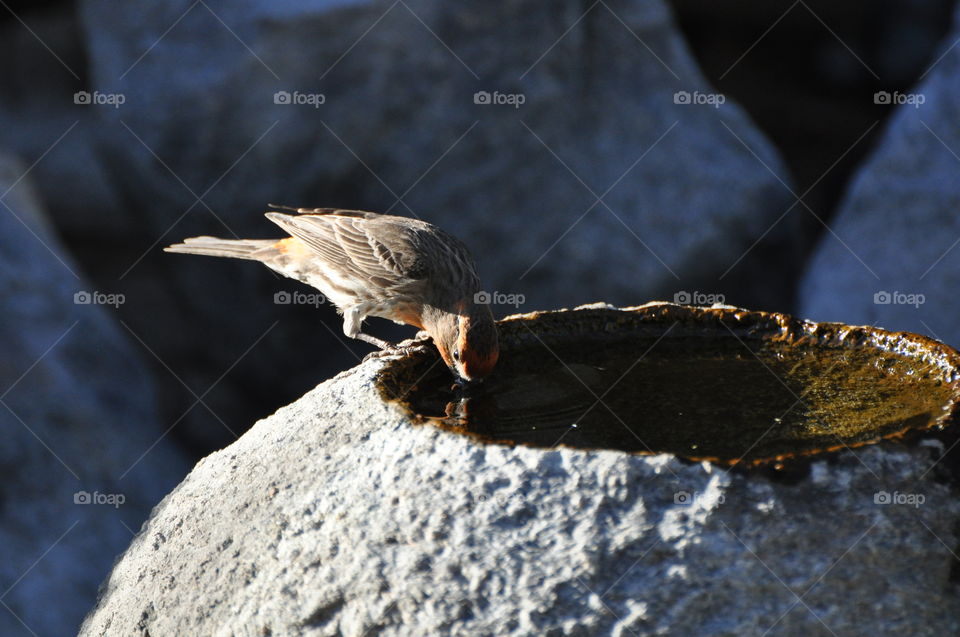
[[[61,234],[92,243],[105,228],[134,233],[137,219],[117,199],[97,152],[100,107],[75,99],[86,70],[77,11],[69,4],[17,11],[29,29],[18,20],[0,24],[0,57],[11,61],[0,69],[0,148],[33,165],[30,178]]]

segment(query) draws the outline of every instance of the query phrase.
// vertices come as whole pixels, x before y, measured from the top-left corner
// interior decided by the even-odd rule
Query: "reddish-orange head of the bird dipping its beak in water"
[[[497,326],[489,305],[464,302],[456,312],[444,312],[429,330],[443,362],[466,382],[482,380],[500,356]]]

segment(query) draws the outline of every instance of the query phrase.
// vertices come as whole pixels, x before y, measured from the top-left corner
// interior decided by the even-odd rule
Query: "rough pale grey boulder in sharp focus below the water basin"
[[[960,501],[927,471],[936,445],[861,448],[792,483],[668,455],[482,445],[409,424],[377,393],[381,365],[202,460],[81,635],[960,629]],[[881,491],[925,500],[877,504]]]

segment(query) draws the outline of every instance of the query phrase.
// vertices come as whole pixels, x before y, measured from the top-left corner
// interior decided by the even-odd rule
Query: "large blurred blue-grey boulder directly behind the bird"
[[[716,277],[791,203],[763,165],[786,178],[783,163],[738,105],[674,103],[712,91],[660,0],[86,0],[81,12],[89,90],[125,97],[89,110],[98,156],[137,218],[139,234],[118,243],[134,247],[128,263],[147,252],[127,280],[164,299],[132,321],[220,334],[202,360],[184,355],[176,330],[158,344],[174,368],[202,366],[201,386],[259,335],[227,317],[265,329],[283,284],[252,264],[148,248],[278,236],[267,202],[438,223],[477,253],[488,291],[527,307],[717,292]],[[477,104],[480,91],[523,103]],[[91,228],[101,240],[123,227],[104,226]],[[787,302],[787,254],[742,262],[723,281],[728,300]],[[293,395],[354,364],[316,312],[288,316],[287,338],[266,339],[211,397],[228,420],[245,416],[231,413],[234,397],[262,391],[259,371],[278,359],[288,384],[306,379]],[[332,311],[320,316],[338,330]],[[304,343],[328,351],[300,362]]]

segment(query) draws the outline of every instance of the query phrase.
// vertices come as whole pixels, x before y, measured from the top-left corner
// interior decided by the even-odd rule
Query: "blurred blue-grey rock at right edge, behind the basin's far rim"
[[[926,78],[891,95],[912,103],[898,107],[824,234],[801,285],[804,316],[960,344],[958,37],[955,25]]]

